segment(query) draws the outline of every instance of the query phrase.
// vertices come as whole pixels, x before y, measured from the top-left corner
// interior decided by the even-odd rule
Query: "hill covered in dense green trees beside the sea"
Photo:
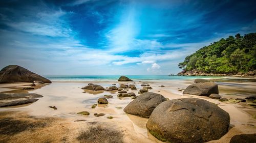
[[[256,33],[222,38],[188,55],[179,68],[219,74],[253,71],[256,69]]]

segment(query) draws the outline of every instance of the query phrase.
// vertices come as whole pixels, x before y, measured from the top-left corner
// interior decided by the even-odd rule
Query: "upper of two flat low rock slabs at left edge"
[[[0,93],[0,100],[10,100],[18,98],[40,98],[43,97],[35,93]]]

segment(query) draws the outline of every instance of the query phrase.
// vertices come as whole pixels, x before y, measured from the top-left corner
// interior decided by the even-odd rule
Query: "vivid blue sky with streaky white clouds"
[[[185,57],[256,32],[256,1],[0,1],[0,69],[177,74]]]

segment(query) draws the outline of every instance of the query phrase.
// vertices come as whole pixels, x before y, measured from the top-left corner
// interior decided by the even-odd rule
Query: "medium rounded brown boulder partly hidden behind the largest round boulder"
[[[123,111],[143,118],[149,118],[157,105],[166,99],[156,93],[144,93],[130,102]]]

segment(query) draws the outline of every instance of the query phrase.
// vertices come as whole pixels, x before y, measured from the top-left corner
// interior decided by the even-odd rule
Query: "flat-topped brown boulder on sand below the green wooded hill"
[[[210,94],[219,94],[218,84],[214,82],[194,83],[189,85],[183,94],[193,94],[198,96],[209,96]]]

